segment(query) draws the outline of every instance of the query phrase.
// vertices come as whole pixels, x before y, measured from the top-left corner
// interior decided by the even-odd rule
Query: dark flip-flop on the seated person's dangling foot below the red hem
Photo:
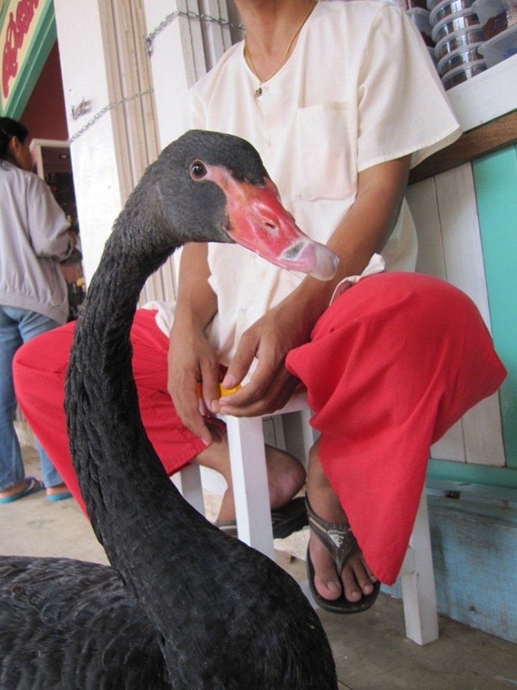
[[[311,530],[331,554],[336,572],[341,573],[347,556],[355,544],[357,544],[349,522],[326,522],[326,520],[323,520],[322,517],[316,515],[313,511],[307,495],[305,495],[305,504]],[[371,594],[363,594],[358,602],[349,602],[343,593],[339,599],[325,599],[316,591],[314,586],[315,572],[309,546],[307,546],[306,566],[311,594],[318,606],[324,609],[324,611],[331,611],[331,613],[362,613],[362,611],[367,611],[375,604],[380,590],[379,580],[373,583],[373,592]]]

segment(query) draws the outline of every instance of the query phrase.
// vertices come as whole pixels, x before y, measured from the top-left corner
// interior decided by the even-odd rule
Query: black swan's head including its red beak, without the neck
[[[338,257],[297,227],[248,141],[190,130],[151,167],[180,242],[237,242],[281,268],[322,280],[335,274]]]

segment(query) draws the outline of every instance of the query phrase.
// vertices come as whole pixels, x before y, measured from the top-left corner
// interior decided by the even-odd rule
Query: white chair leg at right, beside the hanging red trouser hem
[[[400,578],[407,637],[417,644],[438,640],[436,589],[425,491],[420,499]]]

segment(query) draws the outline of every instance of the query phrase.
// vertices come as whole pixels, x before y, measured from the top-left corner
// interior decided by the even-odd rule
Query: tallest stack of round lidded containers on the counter
[[[485,40],[474,0],[427,0],[438,74],[446,89],[487,69],[478,48]]]

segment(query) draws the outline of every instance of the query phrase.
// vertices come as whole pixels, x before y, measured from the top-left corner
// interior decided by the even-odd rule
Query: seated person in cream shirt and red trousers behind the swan
[[[331,611],[360,611],[375,601],[379,580],[398,574],[431,441],[505,377],[470,300],[409,273],[409,169],[460,130],[399,8],[235,3],[246,37],[192,88],[189,124],[251,141],[286,208],[340,265],[322,283],[238,246],[187,245],[175,306],[135,317],[142,420],[168,473],[191,461],[224,475],[219,522],[228,526],[228,444],[213,442],[197,384],[208,411],[238,416],[275,411],[306,384],[321,431],[307,476],[309,578]],[[21,348],[16,369],[23,409],[77,493],[62,412],[71,339],[70,325],[39,337],[37,347]],[[240,391],[220,399],[221,376],[226,388],[242,382]],[[292,503],[303,473],[271,452],[274,509]]]

